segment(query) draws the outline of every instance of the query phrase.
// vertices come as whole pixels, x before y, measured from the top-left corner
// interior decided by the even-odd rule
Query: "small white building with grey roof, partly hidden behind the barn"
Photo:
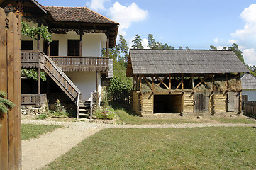
[[[243,87],[243,101],[256,101],[256,77],[245,73],[241,77]]]

